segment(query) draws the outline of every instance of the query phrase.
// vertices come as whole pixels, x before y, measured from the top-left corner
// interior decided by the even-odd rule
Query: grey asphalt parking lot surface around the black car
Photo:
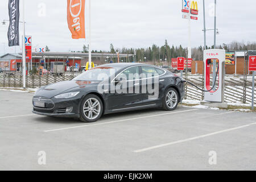
[[[178,106],[81,123],[32,114],[32,96],[0,91],[0,170],[256,169],[255,113]]]

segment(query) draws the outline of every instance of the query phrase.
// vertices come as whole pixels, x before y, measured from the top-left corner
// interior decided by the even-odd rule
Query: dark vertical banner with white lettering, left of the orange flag
[[[19,46],[19,0],[9,0],[9,18],[7,33],[9,47]]]

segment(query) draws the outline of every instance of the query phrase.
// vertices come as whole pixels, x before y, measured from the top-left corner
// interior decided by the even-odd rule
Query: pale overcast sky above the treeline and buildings
[[[66,0],[20,0],[20,21],[22,1],[25,2],[26,35],[32,36],[32,46],[45,47],[51,51],[81,51],[85,39],[71,39],[67,25]],[[86,1],[88,2],[88,1]],[[188,20],[182,19],[181,0],[92,0],[92,49],[149,47],[153,43],[162,46],[164,40],[175,46],[188,44]],[[199,4],[199,20],[192,20],[192,47],[203,46],[203,0]],[[214,0],[205,0],[206,26],[214,27]],[[46,14],[42,8],[46,7]],[[217,0],[217,44],[233,40],[256,41],[256,2],[251,0]],[[86,10],[85,10],[86,11]],[[0,17],[9,19],[8,0],[1,0]],[[87,16],[88,17],[88,16]],[[88,21],[87,21],[88,22]],[[14,52],[8,47],[7,30],[0,24],[0,55]],[[22,24],[20,24],[20,45]],[[87,32],[86,32],[87,33]],[[88,34],[86,34],[88,35]],[[207,45],[213,45],[213,31],[207,32]],[[16,47],[20,52],[21,47]]]

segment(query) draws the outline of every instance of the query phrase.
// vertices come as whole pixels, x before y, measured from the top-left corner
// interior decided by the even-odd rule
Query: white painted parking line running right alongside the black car
[[[146,116],[143,116],[143,117],[129,118],[129,119],[121,119],[121,120],[118,120],[118,121],[110,121],[110,122],[95,123],[95,124],[91,124],[91,125],[80,125],[80,126],[73,126],[73,127],[64,127],[64,128],[62,128],[62,129],[45,130],[44,132],[60,131],[60,130],[68,130],[68,129],[77,129],[77,128],[79,128],[79,127],[106,125],[106,124],[110,124],[110,123],[117,123],[117,122],[123,122],[123,121],[130,121],[130,120],[133,120],[133,119],[143,119],[143,118],[157,117],[157,116],[160,116],[160,115],[175,114],[175,113],[185,113],[185,112],[193,111],[193,110],[199,110],[199,109],[190,109],[190,110],[183,110],[183,111],[168,112],[168,113],[163,113],[163,114],[146,115]]]

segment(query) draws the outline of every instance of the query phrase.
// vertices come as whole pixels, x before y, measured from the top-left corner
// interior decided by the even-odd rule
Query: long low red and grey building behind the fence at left
[[[92,61],[96,65],[105,63],[113,63],[113,59],[120,62],[131,62],[131,54],[117,54],[117,53],[92,53]],[[26,60],[27,70],[43,66],[48,69],[51,67],[51,62],[63,62],[65,67],[72,67],[77,64],[78,68],[86,65],[89,60],[89,53],[79,52],[32,52],[32,59]],[[6,53],[0,57],[0,68],[4,71],[20,71],[22,68],[22,53]]]

